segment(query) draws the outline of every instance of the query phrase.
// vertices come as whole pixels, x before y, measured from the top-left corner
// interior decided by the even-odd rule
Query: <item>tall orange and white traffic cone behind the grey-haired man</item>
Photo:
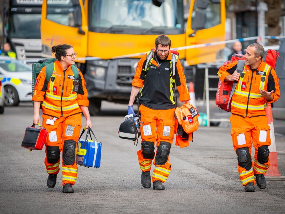
[[[278,159],[277,159],[277,151],[276,151],[274,128],[273,128],[272,108],[270,103],[268,103],[266,107],[266,117],[268,119],[267,123],[270,126],[271,145],[268,147],[270,152],[269,153],[270,166],[267,172],[265,173],[265,176],[281,176],[278,170]]]

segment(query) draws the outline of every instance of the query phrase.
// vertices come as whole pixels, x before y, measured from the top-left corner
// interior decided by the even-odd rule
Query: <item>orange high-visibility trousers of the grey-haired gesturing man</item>
[[[232,144],[238,155],[238,172],[240,180],[245,186],[254,182],[254,174],[265,174],[270,166],[270,126],[267,117],[240,117],[232,114]],[[251,142],[254,146],[254,163],[251,157]]]

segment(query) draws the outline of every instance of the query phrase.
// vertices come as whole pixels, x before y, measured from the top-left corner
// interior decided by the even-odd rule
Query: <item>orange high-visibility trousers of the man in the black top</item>
[[[168,162],[168,155],[174,138],[174,111],[175,108],[167,110],[154,110],[140,105],[141,113],[141,150],[137,151],[140,169],[151,170],[153,164],[152,182],[160,180],[165,182],[171,170]],[[154,144],[156,141],[156,155],[154,153]]]

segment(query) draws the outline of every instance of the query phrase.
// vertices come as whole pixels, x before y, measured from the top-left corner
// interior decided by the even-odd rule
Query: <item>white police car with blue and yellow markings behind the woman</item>
[[[31,66],[8,56],[0,56],[0,81],[4,86],[6,106],[18,106],[20,102],[32,100]]]

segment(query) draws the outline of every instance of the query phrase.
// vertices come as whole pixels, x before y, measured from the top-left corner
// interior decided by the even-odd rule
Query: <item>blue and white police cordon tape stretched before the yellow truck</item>
[[[243,39],[234,39],[234,40],[224,40],[224,41],[219,41],[219,42],[213,42],[213,43],[204,43],[204,44],[199,44],[199,45],[189,45],[189,46],[183,46],[183,47],[178,47],[178,48],[171,48],[171,50],[174,51],[179,51],[179,50],[186,50],[186,49],[191,49],[191,48],[202,48],[202,47],[207,47],[207,46],[213,46],[213,45],[223,45],[223,44],[229,44],[229,43],[234,43],[236,41],[248,41],[248,40],[256,40],[258,38],[264,38],[264,39],[284,39],[285,36],[264,36],[264,37],[260,37],[260,36],[255,36],[255,37],[247,37],[247,38],[243,38]],[[142,53],[136,53],[136,54],[126,54],[126,55],[121,55],[121,56],[114,56],[111,57],[110,59],[121,59],[121,58],[129,58],[129,57],[134,57],[134,56],[142,56],[144,55],[146,52],[142,52]],[[79,57],[77,58],[77,60],[99,60],[99,59],[103,59],[101,57]],[[30,63],[30,62],[36,62],[35,60],[32,59],[28,59],[28,60],[22,60],[24,63]]]

